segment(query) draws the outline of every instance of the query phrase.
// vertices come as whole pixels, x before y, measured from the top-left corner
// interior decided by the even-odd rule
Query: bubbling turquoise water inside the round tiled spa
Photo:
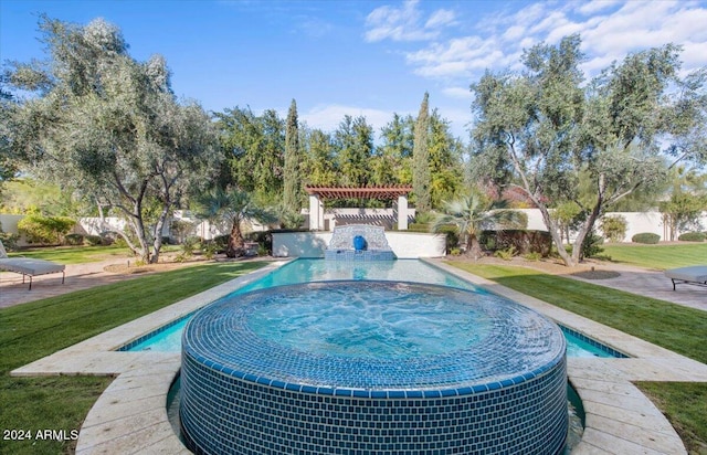
[[[277,299],[254,301],[246,327],[291,349],[376,359],[462,350],[485,338],[492,328],[478,294],[465,300],[449,298],[441,292],[446,288],[404,294],[398,288],[408,286],[380,286],[380,282],[371,282],[366,292],[351,293],[344,284],[350,282],[335,283],[326,293],[318,287],[306,294],[281,287],[287,298],[278,295]]]

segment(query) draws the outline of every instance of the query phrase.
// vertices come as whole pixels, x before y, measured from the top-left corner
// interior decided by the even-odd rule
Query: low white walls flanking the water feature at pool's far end
[[[445,255],[443,235],[413,232],[386,232],[388,244],[401,260],[440,257]],[[324,257],[331,241],[330,232],[278,232],[273,233],[273,256]]]

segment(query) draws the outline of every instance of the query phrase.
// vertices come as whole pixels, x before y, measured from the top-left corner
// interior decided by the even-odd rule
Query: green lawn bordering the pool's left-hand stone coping
[[[1,441],[0,454],[71,453],[74,442],[38,441],[36,431],[78,430],[112,381],[96,377],[11,378],[10,371],[265,264],[194,265],[0,309],[0,428],[30,431],[33,436]]]

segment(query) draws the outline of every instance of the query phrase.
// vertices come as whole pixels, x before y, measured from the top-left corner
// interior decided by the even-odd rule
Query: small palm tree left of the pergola
[[[241,223],[245,220],[256,220],[271,223],[274,216],[266,210],[253,204],[247,192],[239,188],[214,188],[198,198],[197,216],[209,220],[223,230],[229,229],[229,244],[225,250],[228,257],[240,257],[245,254],[245,241],[241,231]],[[230,226],[229,226],[230,224]]]

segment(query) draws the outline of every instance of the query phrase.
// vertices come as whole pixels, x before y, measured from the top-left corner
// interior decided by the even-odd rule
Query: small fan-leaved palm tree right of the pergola
[[[441,233],[445,226],[455,226],[460,237],[466,239],[466,252],[477,258],[482,250],[478,235],[483,230],[519,222],[518,212],[506,209],[506,201],[488,201],[479,192],[472,191],[458,200],[445,202],[444,213],[435,216],[432,231]]]

